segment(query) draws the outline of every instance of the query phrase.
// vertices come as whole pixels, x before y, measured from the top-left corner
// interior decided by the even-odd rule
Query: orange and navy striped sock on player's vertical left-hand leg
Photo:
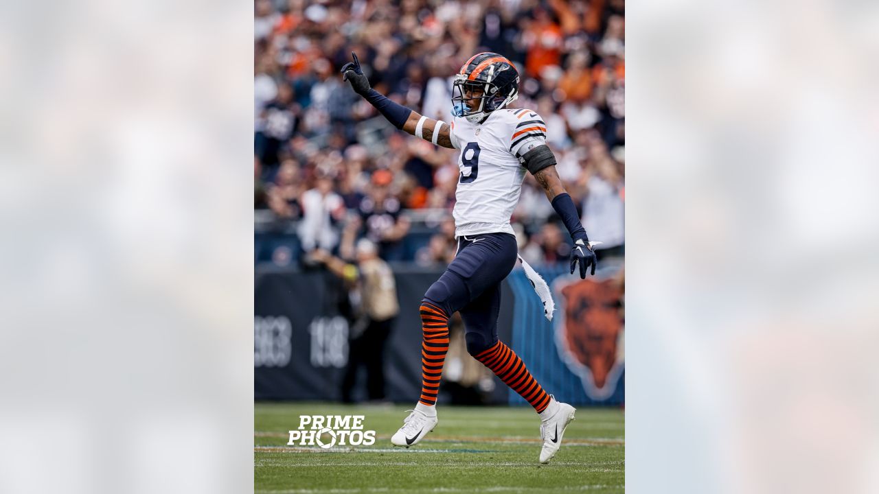
[[[420,311],[424,339],[421,343],[421,398],[418,401],[433,406],[437,403],[439,376],[448,351],[448,315],[429,301],[421,302]]]

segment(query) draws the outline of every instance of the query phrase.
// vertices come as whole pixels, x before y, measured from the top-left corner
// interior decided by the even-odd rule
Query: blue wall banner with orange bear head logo
[[[536,267],[556,301],[552,321],[521,270],[507,278],[515,294],[512,349],[534,378],[557,399],[572,404],[625,402],[622,265],[603,262],[580,280],[562,267]],[[526,404],[509,394],[510,404]]]

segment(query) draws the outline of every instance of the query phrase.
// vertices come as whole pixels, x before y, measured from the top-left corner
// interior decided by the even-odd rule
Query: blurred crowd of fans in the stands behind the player
[[[599,258],[621,256],[625,183],[624,0],[256,0],[255,207],[309,252],[385,260],[454,257],[458,150],[403,134],[342,81],[356,52],[376,91],[451,120],[451,78],[493,51],[519,69],[519,99],[547,123],[557,169]],[[567,259],[568,234],[530,174],[513,227],[534,264]],[[430,215],[425,222],[422,213]],[[415,213],[415,214],[413,214]],[[412,220],[418,218],[418,224]],[[418,243],[407,239],[420,229]]]

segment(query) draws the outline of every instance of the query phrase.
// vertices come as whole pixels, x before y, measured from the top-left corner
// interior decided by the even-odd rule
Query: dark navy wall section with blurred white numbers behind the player
[[[421,394],[418,306],[427,288],[441,273],[436,269],[395,268],[400,315],[396,317],[385,352],[389,401],[414,403]],[[258,266],[254,308],[255,399],[341,399],[352,321],[342,283],[328,272],[294,272]],[[512,340],[512,317],[512,289],[505,283],[498,318],[499,337],[505,341]],[[507,403],[508,389],[497,377],[495,379],[488,401]],[[439,403],[444,403],[442,389]]]

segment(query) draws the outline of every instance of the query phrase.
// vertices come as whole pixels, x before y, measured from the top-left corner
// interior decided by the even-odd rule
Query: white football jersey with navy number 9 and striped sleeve
[[[451,127],[452,145],[461,149],[455,236],[512,234],[510,216],[527,171],[519,156],[546,143],[546,124],[531,110],[501,109],[481,124],[455,117]]]

